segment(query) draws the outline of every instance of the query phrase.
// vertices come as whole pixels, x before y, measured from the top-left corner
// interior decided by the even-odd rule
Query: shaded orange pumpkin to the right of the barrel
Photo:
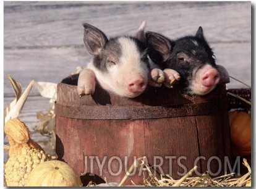
[[[235,156],[251,154],[251,118],[245,111],[229,112],[232,151]]]

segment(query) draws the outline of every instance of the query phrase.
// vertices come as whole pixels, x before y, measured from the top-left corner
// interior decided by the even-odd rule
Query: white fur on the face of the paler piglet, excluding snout
[[[135,77],[142,77],[147,83],[149,70],[147,64],[141,61],[142,54],[140,54],[132,39],[121,37],[118,42],[121,44],[121,55],[118,64],[105,73],[96,69],[92,62],[88,64],[88,68],[95,72],[98,83],[106,90],[113,91],[121,96],[134,98],[139,96],[139,93],[130,92],[127,85]]]

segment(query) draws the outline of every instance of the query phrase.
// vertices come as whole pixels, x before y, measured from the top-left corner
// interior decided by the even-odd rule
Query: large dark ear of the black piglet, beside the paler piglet
[[[146,32],[146,37],[150,59],[156,64],[168,61],[171,57],[171,41],[165,36],[151,31]]]

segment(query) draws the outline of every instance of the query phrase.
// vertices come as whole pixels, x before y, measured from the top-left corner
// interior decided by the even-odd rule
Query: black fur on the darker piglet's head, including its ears
[[[177,40],[147,31],[148,52],[150,59],[163,69],[176,70],[181,75],[180,83],[189,86],[192,73],[205,64],[216,67],[215,56],[203,36],[202,27],[195,36],[184,36]]]

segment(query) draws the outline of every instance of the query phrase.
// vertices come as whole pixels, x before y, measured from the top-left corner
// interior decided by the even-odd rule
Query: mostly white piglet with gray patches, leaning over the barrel
[[[108,40],[103,31],[83,23],[83,41],[93,59],[79,74],[77,92],[80,96],[93,94],[97,82],[105,90],[128,98],[142,94],[148,83],[164,82],[159,66],[148,61],[145,26],[144,21],[135,36]]]

